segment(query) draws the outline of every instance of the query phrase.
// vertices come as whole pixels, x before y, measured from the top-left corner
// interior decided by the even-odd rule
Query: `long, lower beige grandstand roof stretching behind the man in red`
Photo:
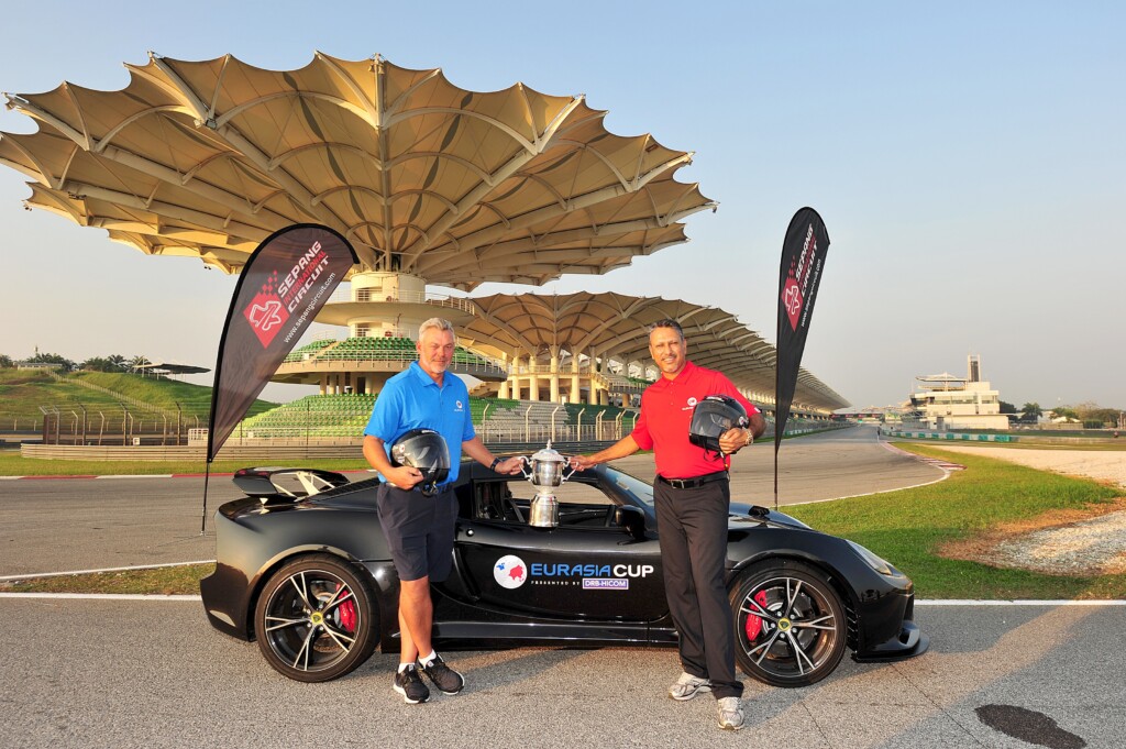
[[[494,294],[474,297],[477,316],[458,328],[459,339],[488,353],[539,355],[571,351],[649,362],[649,327],[669,318],[688,339],[689,358],[721,369],[735,385],[775,390],[774,346],[724,310],[680,300],[624,294]],[[835,391],[799,371],[795,403],[837,410],[849,405]]]

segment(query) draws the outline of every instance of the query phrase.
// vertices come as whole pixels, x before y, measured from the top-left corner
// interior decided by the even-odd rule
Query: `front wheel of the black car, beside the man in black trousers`
[[[844,654],[848,624],[825,574],[793,561],[744,571],[731,591],[735,660],[751,678],[804,687],[825,678]]]

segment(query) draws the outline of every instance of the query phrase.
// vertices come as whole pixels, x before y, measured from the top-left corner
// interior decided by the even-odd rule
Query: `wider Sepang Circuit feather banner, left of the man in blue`
[[[218,344],[208,464],[356,262],[348,240],[319,224],[277,231],[247,260]]]

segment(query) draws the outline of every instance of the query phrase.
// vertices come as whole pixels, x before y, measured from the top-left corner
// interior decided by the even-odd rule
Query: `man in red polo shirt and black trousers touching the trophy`
[[[727,469],[730,455],[759,437],[766,420],[724,375],[689,362],[687,350],[679,323],[656,322],[650,329],[649,353],[661,378],[642,394],[634,430],[610,447],[573,457],[571,463],[589,469],[638,449],[653,451],[664,592],[680,633],[683,667],[669,696],[686,701],[711,690],[718,703],[720,726],[738,731],[743,728],[739,702],[743,684],[735,676],[735,633],[724,581],[731,509]],[[750,418],[750,429],[730,429],[720,437],[722,455],[688,440],[692,409],[708,395],[734,398]]]

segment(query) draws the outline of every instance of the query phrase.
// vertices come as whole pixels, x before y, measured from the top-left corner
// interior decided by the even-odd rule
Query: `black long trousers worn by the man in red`
[[[735,676],[735,632],[724,585],[731,484],[673,489],[658,481],[653,498],[680,663],[688,674],[711,679],[716,699],[739,697],[743,683]]]

